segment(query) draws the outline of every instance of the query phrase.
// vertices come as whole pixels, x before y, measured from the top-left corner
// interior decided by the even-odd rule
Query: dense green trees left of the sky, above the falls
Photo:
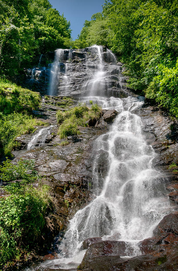
[[[0,0],[0,25],[1,76],[17,75],[71,38],[70,22],[48,0]]]

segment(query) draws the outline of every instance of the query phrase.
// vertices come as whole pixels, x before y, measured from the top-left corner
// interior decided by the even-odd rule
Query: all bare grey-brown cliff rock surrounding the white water
[[[125,86],[126,78],[121,73],[122,64],[116,64],[112,53],[103,47],[102,63],[96,54],[96,48],[64,50],[63,59],[59,62],[56,88],[53,95],[47,96],[51,66],[48,67],[46,64],[48,61],[52,62],[54,58],[54,52],[43,56],[41,64],[44,67],[29,69],[26,81],[26,84],[30,84],[32,89],[38,90],[42,96],[46,95],[41,101],[41,107],[37,111],[33,111],[33,114],[44,119],[51,128],[48,130],[45,142],[38,137],[31,149],[27,148],[34,135],[19,137],[17,140],[21,142],[21,148],[13,151],[13,154],[14,162],[20,158],[35,159],[36,169],[43,176],[43,182],[50,185],[55,211],[46,218],[46,238],[51,241],[57,236],[56,240],[59,242],[62,240],[69,219],[77,210],[87,206],[96,198],[95,192],[90,189],[93,160],[98,155],[97,149],[93,146],[95,146],[94,142],[98,136],[110,131],[114,118],[120,113],[114,111],[116,109],[114,98],[126,98],[123,100],[123,106],[126,108],[127,97],[137,97],[137,95]],[[94,74],[101,69],[101,65],[104,75],[103,77],[100,75],[99,79],[95,78],[94,82]],[[92,93],[93,85],[95,92]],[[69,144],[63,146],[64,140],[57,135],[55,117],[57,110],[66,109],[63,106],[63,102],[65,102],[63,96],[70,96],[73,102],[73,105],[72,103],[67,105],[68,108],[77,104],[78,101],[88,102],[88,96],[92,97],[93,101],[96,100],[96,96],[99,96],[105,98],[104,101],[99,101],[101,106],[104,108],[104,103],[108,99],[110,107],[107,109],[113,108],[113,110],[103,111],[97,123],[91,122],[88,127],[80,127],[80,135],[68,137]],[[178,203],[177,122],[149,104],[142,104],[141,107],[135,110],[131,108],[131,110],[132,113],[140,116],[143,138],[147,145],[152,146],[156,152],[152,165],[160,173],[161,185],[166,187],[164,191],[167,192],[164,192],[164,199],[166,201],[169,197],[168,212],[171,214],[165,216],[158,226],[155,225],[152,237],[150,235],[150,238],[137,244],[140,252],[135,257],[132,257],[132,247],[128,247],[127,242],[119,240],[120,233],[116,233],[104,241],[101,236],[97,236],[98,238],[92,236],[94,238],[85,240],[83,249],[87,250],[78,270],[177,270],[178,217],[175,212]],[[41,128],[37,127],[35,135]],[[103,180],[109,169],[107,152],[100,150],[99,157],[98,172]],[[162,211],[164,212],[164,210]],[[55,243],[53,243],[53,254],[47,257],[57,258],[58,256],[54,253],[55,249]],[[131,258],[122,258],[125,256]],[[41,267],[37,267],[35,270],[38,268]],[[76,268],[71,269],[70,267],[60,269],[57,263],[54,268],[55,270],[56,268],[58,268],[57,270],[76,270]],[[48,269],[45,266],[45,270],[53,270],[53,267]]]

